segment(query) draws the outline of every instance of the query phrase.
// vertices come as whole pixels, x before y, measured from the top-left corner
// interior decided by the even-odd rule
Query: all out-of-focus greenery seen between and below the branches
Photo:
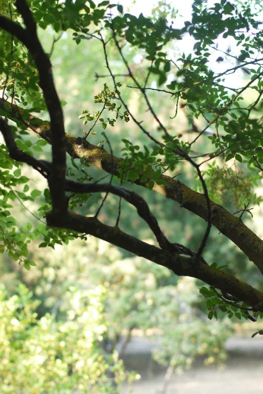
[[[162,3],[154,9],[155,15],[164,13]],[[168,12],[171,12],[169,8]],[[44,47],[50,52],[57,35],[49,29],[40,29],[39,33]],[[76,45],[68,31],[63,33],[53,48],[51,60],[57,90],[65,105],[66,131],[74,136],[84,134],[85,126],[78,119],[81,111],[98,111],[100,108],[93,103],[93,97],[103,89],[105,82],[110,89],[113,88],[110,78],[101,77],[107,74],[107,69],[99,45],[96,40],[82,40]],[[170,47],[169,50],[177,54],[180,52],[178,47]],[[143,53],[127,46],[126,58],[136,75],[145,78]],[[110,62],[116,73],[125,72],[114,47]],[[128,77],[120,76],[118,80],[123,84],[122,94],[136,118],[145,123],[152,122],[136,90],[124,89],[128,85]],[[193,119],[187,116],[184,109],[173,120],[170,117],[174,115],[176,103],[170,96],[149,92],[149,98],[159,118],[165,119],[166,124],[169,121],[168,128],[187,138],[192,131]],[[47,119],[47,114],[43,113],[40,117]],[[92,135],[90,141],[102,143],[103,128],[97,126],[95,130],[97,134]],[[117,123],[106,131],[115,155],[121,154],[123,138],[139,146],[146,141],[146,136],[131,122],[128,125]],[[154,133],[157,135],[158,129],[153,122]],[[49,147],[43,146],[42,149],[43,158],[46,159]],[[206,146],[202,149],[207,150]],[[77,178],[81,163],[75,160],[74,164],[78,169],[68,160],[69,171]],[[30,171],[24,170],[29,178]],[[91,177],[104,176],[96,168],[88,167],[85,171]],[[180,174],[182,182],[194,187],[192,171],[190,166],[184,164],[178,166],[174,174]],[[227,195],[222,196],[216,187],[216,179],[222,177],[222,171],[214,171],[211,187],[217,190],[215,199],[220,202],[223,198],[225,207],[232,211],[233,200]],[[39,178],[38,182],[40,184],[45,180]],[[224,189],[227,189],[227,182],[231,182],[231,177],[226,177]],[[138,188],[128,183],[125,187],[135,191]],[[250,189],[249,185],[247,187]],[[157,193],[140,189],[140,194],[171,242],[197,250],[200,233],[205,229],[202,219],[188,211],[183,212],[174,201],[164,202],[164,197]],[[102,198],[103,195],[94,195],[77,209],[82,214],[88,209],[90,213],[95,213]],[[27,201],[22,205],[21,201],[16,201],[13,212],[18,224],[25,223],[24,205],[28,209],[27,221],[37,224],[38,219],[31,214],[38,216],[34,204]],[[101,220],[115,223],[118,206],[118,198],[109,196],[100,213]],[[161,210],[158,210],[159,206]],[[134,213],[133,208],[122,202],[122,229],[154,243],[150,230]],[[180,373],[189,368],[198,355],[204,355],[207,364],[217,362],[223,365],[226,359],[224,342],[232,329],[229,320],[220,313],[220,322],[208,322],[205,307],[202,306],[203,298],[198,294],[201,285],[198,281],[176,277],[166,268],[139,257],[134,258],[128,252],[92,237],[86,241],[74,240],[67,247],[56,245],[54,249],[42,249],[38,246],[37,240],[29,245],[29,258],[37,264],[30,271],[7,255],[0,257],[0,281],[5,285],[0,293],[2,392],[18,392],[18,388],[21,393],[32,394],[54,393],[62,389],[82,392],[88,378],[91,384],[89,392],[93,392],[95,387],[94,392],[113,393],[125,378],[138,378],[136,373],[126,375],[116,353],[118,350],[122,357],[128,341],[138,330],[159,344],[153,357],[172,371]],[[204,257],[207,261],[220,261],[228,265],[227,269],[237,278],[242,273],[244,281],[263,290],[257,269],[229,240],[223,235],[218,236],[216,229],[211,231]],[[233,261],[238,261],[238,264],[233,265]]]

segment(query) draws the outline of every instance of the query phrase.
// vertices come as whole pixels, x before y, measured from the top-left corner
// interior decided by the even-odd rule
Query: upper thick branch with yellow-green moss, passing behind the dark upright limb
[[[51,131],[49,122],[27,115],[24,117],[24,110],[17,105],[11,105],[8,101],[0,100],[0,115],[12,119],[18,125],[28,124],[28,128],[37,132],[42,138],[51,142]],[[76,138],[66,134],[66,150],[73,158],[82,158],[93,164],[94,166],[106,171],[107,173],[120,177],[119,169],[124,159],[111,156],[104,148],[93,145],[82,139],[82,144],[75,144]],[[147,181],[141,183],[140,180],[135,181],[136,184],[148,187],[154,171],[152,170]],[[141,174],[143,175],[143,173]],[[166,198],[177,201],[182,207],[195,213],[206,220],[207,204],[203,194],[198,193],[180,181],[176,181],[168,176],[162,175],[160,179],[167,183],[167,186],[157,185],[156,182],[153,190],[162,194]],[[229,211],[221,205],[211,201],[212,224],[251,260],[263,273],[263,241],[251,231],[238,217],[233,216]]]

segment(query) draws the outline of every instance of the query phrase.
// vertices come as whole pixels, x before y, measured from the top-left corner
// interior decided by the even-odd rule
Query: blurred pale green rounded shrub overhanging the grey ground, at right
[[[153,358],[177,373],[189,369],[198,355],[206,356],[205,365],[217,363],[220,367],[226,360],[224,341],[231,333],[230,326],[226,321],[207,325],[205,314],[196,307],[195,288],[192,278],[182,278],[177,287],[152,289],[136,314],[140,322],[143,311],[148,330],[154,333],[157,328],[163,333],[152,334],[159,345]]]

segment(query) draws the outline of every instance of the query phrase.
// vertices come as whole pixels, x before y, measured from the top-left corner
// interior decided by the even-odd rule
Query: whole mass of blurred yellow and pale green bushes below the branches
[[[75,243],[49,249],[45,257],[36,248],[38,265],[23,280],[34,295],[25,285],[11,297],[2,288],[4,392],[15,387],[22,392],[119,392],[124,380],[139,378],[125,373],[117,355],[124,357],[135,329],[158,344],[153,358],[167,367],[165,388],[171,372],[190,369],[197,356],[206,365],[224,366],[230,322],[207,325],[193,278],[174,286],[164,267],[139,257],[121,259],[115,247],[102,241],[96,252],[95,239],[89,241],[87,256],[84,241]],[[9,279],[9,286],[13,283]],[[39,373],[41,380],[36,379]]]

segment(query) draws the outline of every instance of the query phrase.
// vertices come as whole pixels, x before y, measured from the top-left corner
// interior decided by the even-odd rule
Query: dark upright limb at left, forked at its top
[[[66,173],[66,138],[62,107],[55,89],[51,63],[44,52],[37,36],[37,27],[26,0],[17,0],[15,3],[21,14],[26,29],[8,18],[0,18],[0,28],[16,36],[31,53],[39,73],[39,85],[43,91],[47,109],[50,115],[50,130],[52,143],[53,171],[48,182],[52,199],[52,209],[58,212],[67,209],[65,198],[65,173]]]

